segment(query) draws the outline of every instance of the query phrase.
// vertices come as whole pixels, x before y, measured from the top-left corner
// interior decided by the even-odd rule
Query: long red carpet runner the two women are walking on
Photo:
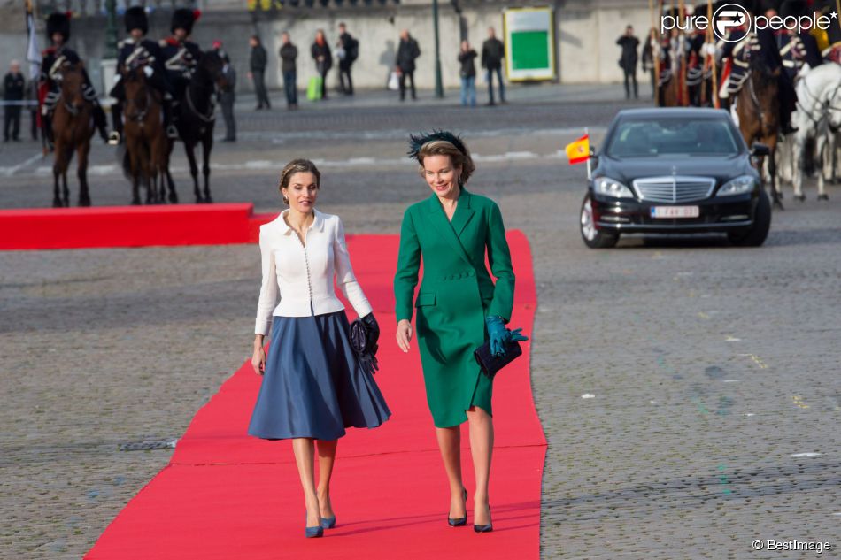
[[[508,237],[517,274],[512,323],[531,334],[536,293],[529,244],[520,232]],[[393,416],[375,430],[351,429],[339,442],[332,488],[336,528],[323,539],[304,539],[304,501],[289,441],[260,441],[245,433],[259,378],[244,364],[198,411],[171,463],[128,503],[85,558],[539,557],[546,441],[531,395],[529,343],[524,357],[499,374],[494,390],[494,532],[448,527],[449,494],[420,357],[416,346],[405,355],[394,342],[397,237],[359,235],[349,246],[383,327],[376,379]],[[467,451],[462,464],[472,493]],[[472,523],[472,498],[467,504]]]

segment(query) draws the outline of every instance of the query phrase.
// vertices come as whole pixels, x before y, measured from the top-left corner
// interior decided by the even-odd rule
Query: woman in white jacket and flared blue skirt
[[[391,412],[374,382],[371,362],[361,363],[354,353],[344,306],[333,290],[335,278],[361,324],[379,334],[371,304],[351,268],[342,220],[314,208],[318,168],[306,159],[289,162],[279,188],[289,209],[260,226],[263,281],[251,365],[263,382],[248,433],[292,440],[304,487],[305,536],[320,537],[336,525],[330,476],[338,438],[349,426],[380,426]],[[263,340],[270,327],[266,357]],[[313,474],[316,447],[318,487]]]

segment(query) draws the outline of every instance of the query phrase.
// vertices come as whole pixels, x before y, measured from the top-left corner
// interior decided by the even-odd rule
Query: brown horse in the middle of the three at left
[[[166,194],[166,170],[169,167],[169,146],[161,124],[163,107],[160,94],[150,88],[143,67],[123,72],[126,92],[124,126],[126,135],[127,171],[132,178],[132,204],[140,203],[139,187],[146,185],[146,203],[163,203]],[[158,188],[158,185],[160,188]],[[178,202],[174,185],[169,200]]]

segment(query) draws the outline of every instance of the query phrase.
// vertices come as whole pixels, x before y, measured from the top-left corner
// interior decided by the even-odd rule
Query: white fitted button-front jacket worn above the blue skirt
[[[342,220],[314,212],[315,219],[306,231],[306,246],[283,219],[289,210],[260,226],[263,283],[257,304],[256,334],[268,334],[273,315],[309,317],[312,311],[315,315],[343,311],[344,306],[333,289],[334,276],[359,317],[372,311],[353,275]]]

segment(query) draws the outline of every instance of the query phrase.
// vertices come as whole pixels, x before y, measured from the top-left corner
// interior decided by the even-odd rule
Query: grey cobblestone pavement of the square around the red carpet
[[[752,550],[797,539],[829,541],[823,556],[838,557],[841,189],[827,203],[814,188],[806,203],[790,196],[759,249],[716,236],[586,249],[583,166],[558,150],[582,126],[598,142],[620,106],[248,114],[243,142],[214,153],[227,165],[214,193],[276,209],[277,168],[316,157],[325,211],[351,233],[396,233],[427,192],[399,140],[452,119],[480,156],[472,188],[534,251],[542,556],[814,554]],[[315,131],[333,119],[336,134]],[[346,134],[354,127],[364,142]],[[96,165],[108,157],[96,149]],[[49,203],[39,165],[3,178],[4,207]],[[126,202],[113,170],[91,182],[95,203]],[[167,445],[248,355],[258,270],[251,245],[0,254],[0,556],[80,557],[166,464]]]

